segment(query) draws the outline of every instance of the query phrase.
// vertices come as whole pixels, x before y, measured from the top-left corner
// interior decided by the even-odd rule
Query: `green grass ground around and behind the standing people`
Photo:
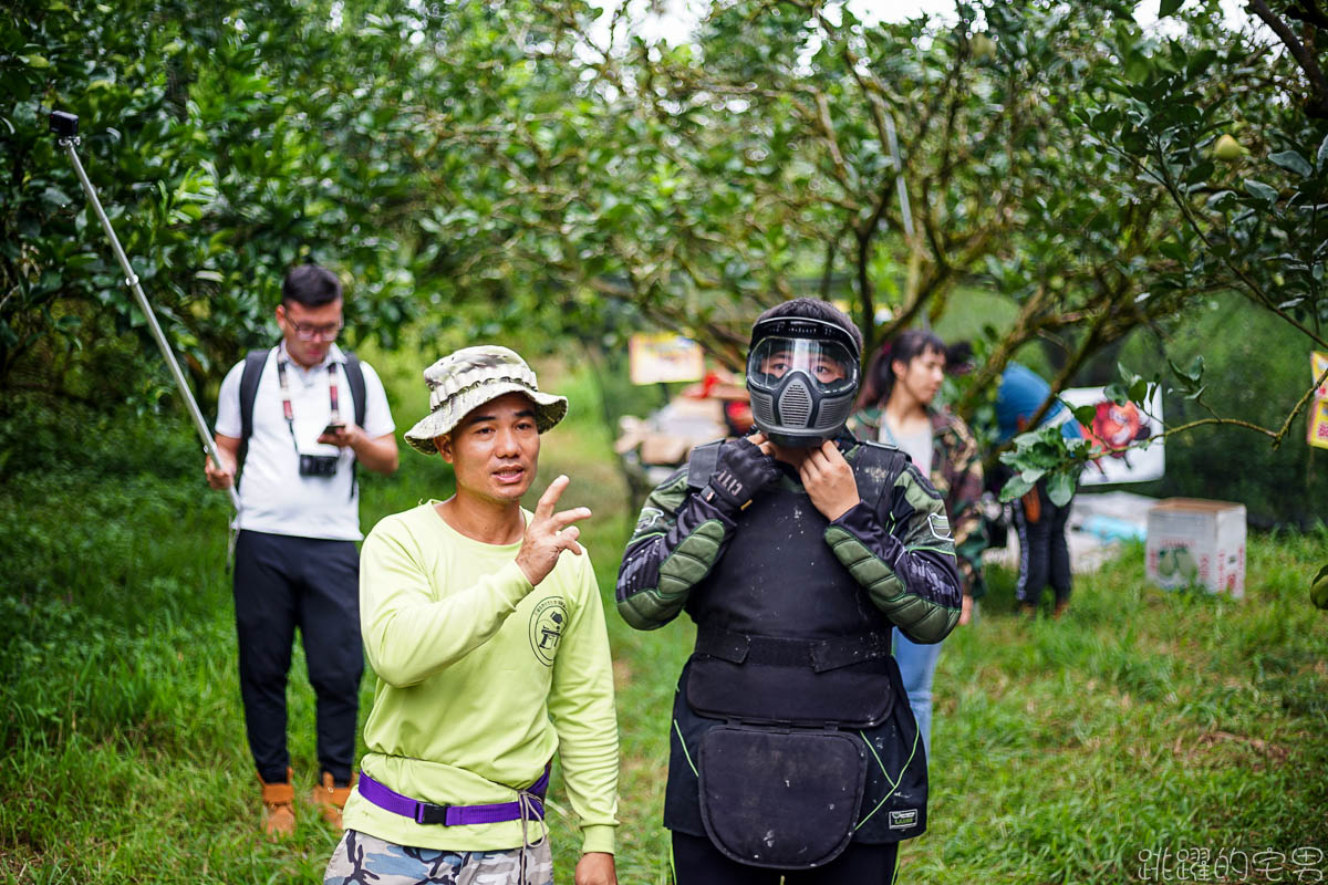
[[[402,386],[414,383],[405,370],[384,374],[404,429],[421,391]],[[584,375],[546,386],[592,402]],[[584,540],[611,601],[633,515],[592,415],[574,409],[546,437],[537,488],[567,472],[564,500],[595,510]],[[167,418],[54,421],[12,405],[0,421],[0,881],[316,882],[335,845],[312,813],[288,843],[258,836],[227,504]],[[363,480],[363,523],[444,498],[450,482],[405,451],[397,476]],[[1223,881],[1179,878],[1177,852],[1191,849],[1226,852],[1231,882],[1328,876],[1328,614],[1307,598],[1324,560],[1325,529],[1256,536],[1235,602],[1151,589],[1142,549],[1127,549],[1078,582],[1066,618],[1033,624],[1013,614],[1012,576],[992,573],[981,617],[942,655],[931,831],[904,848],[903,881]],[[691,628],[636,633],[611,614],[610,634],[619,877],[668,882],[665,728]],[[300,654],[292,675],[291,748],[311,785]],[[570,882],[576,837],[560,796],[555,784],[558,881]],[[1141,861],[1162,849],[1169,870]]]

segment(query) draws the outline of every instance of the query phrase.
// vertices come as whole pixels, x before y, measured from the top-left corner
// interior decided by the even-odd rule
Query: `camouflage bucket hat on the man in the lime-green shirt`
[[[497,345],[462,348],[424,370],[429,385],[429,414],[406,431],[417,451],[438,451],[433,441],[450,433],[473,409],[505,393],[523,393],[535,403],[539,433],[567,414],[567,397],[540,393],[535,373],[515,352]]]

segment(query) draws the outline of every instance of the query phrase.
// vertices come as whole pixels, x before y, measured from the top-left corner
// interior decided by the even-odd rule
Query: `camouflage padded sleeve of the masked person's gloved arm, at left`
[[[733,520],[691,494],[684,466],[645,499],[618,571],[618,613],[637,630],[676,618],[732,533]]]

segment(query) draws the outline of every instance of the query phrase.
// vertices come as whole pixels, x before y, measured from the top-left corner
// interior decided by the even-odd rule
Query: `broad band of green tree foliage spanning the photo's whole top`
[[[538,329],[606,352],[649,322],[732,365],[756,309],[795,292],[846,297],[874,341],[976,280],[1016,314],[981,325],[969,417],[1029,342],[1060,389],[1214,289],[1323,341],[1328,133],[1267,100],[1270,77],[1299,89],[1289,57],[1215,3],[1167,4],[1179,37],[1110,0],[957,13],[725,0],[683,46],[582,0],[5,16],[0,383],[92,398],[68,348],[141,340],[46,106],[82,117],[199,382],[270,332],[307,256],[351,285],[352,337],[389,348],[416,318],[425,340]],[[1215,158],[1223,130],[1246,143]],[[162,385],[127,362],[118,398],[151,402]]]

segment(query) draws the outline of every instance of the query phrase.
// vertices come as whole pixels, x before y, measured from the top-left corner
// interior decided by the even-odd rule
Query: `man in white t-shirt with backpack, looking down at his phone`
[[[212,488],[228,488],[243,471],[235,544],[240,697],[271,837],[295,832],[286,683],[296,628],[317,697],[321,771],[313,801],[340,827],[353,785],[364,673],[355,464],[377,474],[397,468],[382,382],[335,344],[336,275],[316,264],[293,268],[282,284],[276,322],[280,344],[250,354],[222,382],[215,430],[223,463],[206,466]]]

